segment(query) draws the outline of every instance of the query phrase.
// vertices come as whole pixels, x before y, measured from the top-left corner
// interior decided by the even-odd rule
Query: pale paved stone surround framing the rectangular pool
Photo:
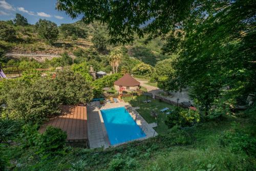
[[[99,101],[91,102],[87,105],[87,117],[88,117],[88,138],[91,148],[108,148],[111,146],[108,133],[106,132],[103,118],[101,116],[101,109],[110,109],[118,108],[124,106],[124,108],[129,112],[132,118],[140,126],[140,128],[146,134],[146,137],[136,139],[143,140],[157,135],[157,132],[153,129],[156,126],[156,123],[148,124],[140,114],[134,110],[130,103],[127,102],[118,102],[118,103],[105,103],[100,104]],[[133,140],[135,141],[135,140]],[[123,144],[123,143],[122,143]],[[117,144],[121,145],[121,144]],[[114,145],[114,146],[117,146]]]

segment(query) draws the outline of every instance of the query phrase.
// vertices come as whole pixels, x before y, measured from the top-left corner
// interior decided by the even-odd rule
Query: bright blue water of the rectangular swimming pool
[[[100,110],[111,145],[145,137],[124,107]]]

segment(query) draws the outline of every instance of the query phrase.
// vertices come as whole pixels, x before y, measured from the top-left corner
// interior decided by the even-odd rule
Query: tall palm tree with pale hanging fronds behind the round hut
[[[112,66],[113,73],[115,73],[115,69],[117,73],[118,67],[120,66],[120,63],[121,63],[122,56],[123,54],[119,49],[116,49],[110,52],[109,62],[110,62],[110,65]]]

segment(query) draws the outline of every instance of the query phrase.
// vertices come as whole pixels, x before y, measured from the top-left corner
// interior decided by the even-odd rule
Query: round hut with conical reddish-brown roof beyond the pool
[[[130,74],[124,74],[123,77],[114,82],[117,91],[136,91],[139,89],[140,82],[134,79]]]

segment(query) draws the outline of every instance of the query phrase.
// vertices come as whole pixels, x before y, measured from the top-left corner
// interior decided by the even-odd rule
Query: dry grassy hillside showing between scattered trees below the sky
[[[49,45],[38,36],[35,25],[24,27],[11,25],[16,31],[17,39],[14,42],[0,40],[0,46],[8,53],[62,54],[68,52],[69,54],[73,54],[74,51],[79,49],[85,51],[95,50],[92,42],[95,33],[100,33],[108,39],[108,32],[104,25],[98,23],[84,25],[81,22],[72,25],[84,29],[87,32],[87,37],[73,40],[71,36],[64,37],[59,31],[57,41]],[[161,47],[164,42],[160,38],[152,40],[147,45],[143,44],[144,40],[145,38],[135,37],[134,42],[124,46],[107,44],[106,49],[108,51],[99,52],[99,54],[106,55],[114,48],[125,47],[130,57],[137,58],[152,66],[155,66],[157,61],[167,58],[167,56],[161,54]]]

